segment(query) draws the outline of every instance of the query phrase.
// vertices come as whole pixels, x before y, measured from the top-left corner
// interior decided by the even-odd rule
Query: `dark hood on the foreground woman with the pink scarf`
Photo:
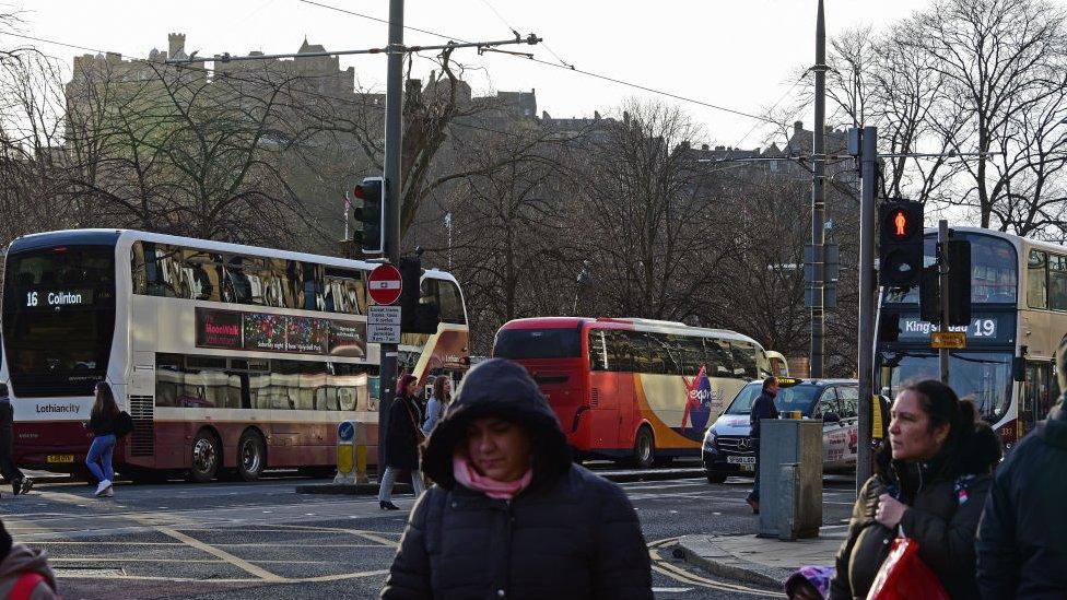
[[[571,447],[555,413],[537,383],[520,365],[492,358],[471,368],[426,440],[422,470],[435,483],[450,490],[452,458],[467,435],[471,421],[499,416],[518,423],[534,437],[531,486],[562,477],[571,468]]]

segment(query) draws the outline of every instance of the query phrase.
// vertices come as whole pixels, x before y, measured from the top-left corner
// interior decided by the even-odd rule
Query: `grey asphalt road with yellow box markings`
[[[366,496],[295,494],[306,479],[195,485],[118,484],[113,498],[87,485],[43,483],[4,494],[0,515],[19,542],[48,551],[65,598],[374,598],[403,529],[404,510]],[[743,503],[750,481],[704,479],[622,484],[654,560],[656,597],[779,596],[714,578],[672,557],[679,536],[754,533]],[[851,483],[828,482],[824,522],[849,511]]]

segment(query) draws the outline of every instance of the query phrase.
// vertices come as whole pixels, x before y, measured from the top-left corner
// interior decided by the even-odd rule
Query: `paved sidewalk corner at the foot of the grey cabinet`
[[[818,538],[784,542],[755,536],[682,536],[678,546],[685,562],[713,575],[782,589],[804,565],[834,564],[846,526],[823,527]]]

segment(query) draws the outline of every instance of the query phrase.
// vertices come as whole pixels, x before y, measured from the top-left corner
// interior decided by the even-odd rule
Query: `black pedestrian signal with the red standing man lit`
[[[881,284],[917,284],[923,271],[923,204],[906,200],[882,202],[878,215]]]

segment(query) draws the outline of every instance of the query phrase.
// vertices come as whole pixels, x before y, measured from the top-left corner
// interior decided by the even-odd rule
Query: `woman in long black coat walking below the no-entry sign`
[[[383,510],[399,510],[392,504],[392,485],[397,482],[400,471],[411,473],[411,486],[415,497],[422,495],[425,484],[422,471],[419,470],[419,446],[425,437],[419,423],[422,412],[415,395],[419,391],[419,380],[413,375],[404,374],[397,386],[397,397],[389,408],[389,423],[385,437],[385,456],[378,457],[378,468],[385,466],[382,482],[378,485],[378,506]]]

